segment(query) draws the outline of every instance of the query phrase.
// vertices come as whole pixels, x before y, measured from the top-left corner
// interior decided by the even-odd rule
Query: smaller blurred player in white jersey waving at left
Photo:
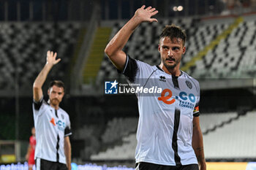
[[[37,145],[34,158],[37,170],[71,170],[72,134],[69,115],[59,107],[64,96],[64,83],[55,80],[48,88],[49,100],[43,99],[42,85],[50,69],[61,61],[57,53],[48,51],[47,62],[33,85],[33,114]]]

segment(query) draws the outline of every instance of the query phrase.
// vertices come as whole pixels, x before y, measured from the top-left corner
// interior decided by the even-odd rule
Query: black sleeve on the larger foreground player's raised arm
[[[129,55],[127,55],[127,61],[125,62],[123,72],[121,72],[120,70],[117,70],[117,72],[120,74],[124,74],[129,81],[134,82],[135,76],[138,72],[138,63],[135,61],[135,59],[130,58]]]

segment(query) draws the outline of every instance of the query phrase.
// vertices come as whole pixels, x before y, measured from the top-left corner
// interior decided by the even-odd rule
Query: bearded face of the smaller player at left
[[[50,104],[53,106],[59,106],[64,96],[64,88],[59,88],[58,86],[53,85],[53,87],[48,90],[48,96]]]

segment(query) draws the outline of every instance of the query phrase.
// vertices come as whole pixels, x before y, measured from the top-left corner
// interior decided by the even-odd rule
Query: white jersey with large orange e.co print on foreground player
[[[197,164],[192,148],[192,120],[199,116],[197,80],[184,72],[173,77],[159,66],[150,66],[128,55],[123,74],[134,85],[162,89],[160,93],[136,93],[140,114],[136,163]]]

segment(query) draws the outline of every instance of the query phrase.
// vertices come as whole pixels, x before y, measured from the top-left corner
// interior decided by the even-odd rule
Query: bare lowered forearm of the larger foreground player
[[[200,170],[206,170],[206,159],[203,152],[203,134],[200,129],[199,117],[193,118],[192,147],[195,150]]]

